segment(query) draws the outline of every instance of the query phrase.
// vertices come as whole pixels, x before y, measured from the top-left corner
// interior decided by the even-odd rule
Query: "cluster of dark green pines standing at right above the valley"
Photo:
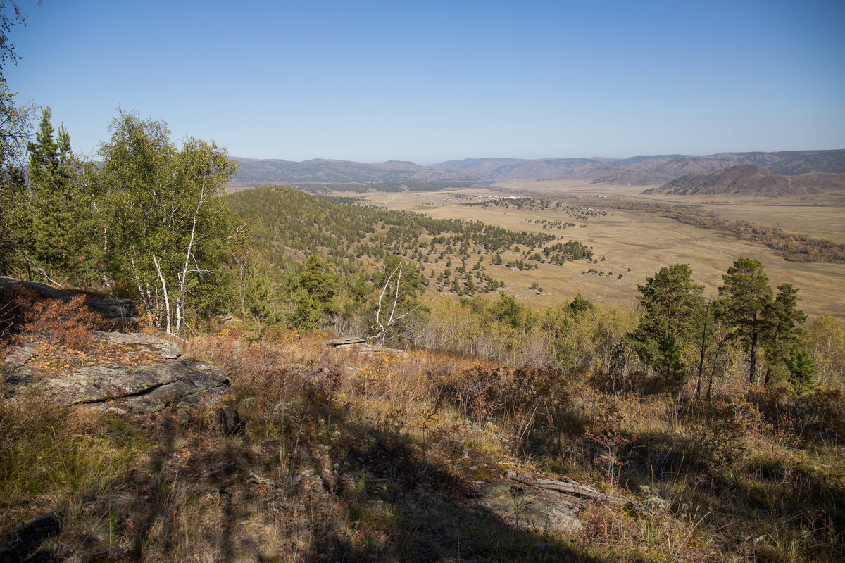
[[[725,344],[734,343],[747,359],[748,382],[789,381],[799,391],[812,385],[806,315],[792,284],[778,285],[776,294],[760,262],[741,257],[722,276],[717,299],[705,300],[691,274],[688,264],[673,264],[637,288],[642,315],[631,342],[646,365],[678,382],[693,372],[698,394],[706,364],[716,366]]]

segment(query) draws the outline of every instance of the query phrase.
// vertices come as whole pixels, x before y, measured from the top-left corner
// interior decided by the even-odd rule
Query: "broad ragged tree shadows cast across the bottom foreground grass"
[[[150,463],[164,474],[179,429],[167,420],[158,426],[159,443]],[[335,483],[315,479],[312,490],[281,482],[280,488],[268,490],[249,483],[250,472],[272,473],[272,457],[278,450],[248,436],[216,441],[179,470],[183,483],[203,481],[206,490],[219,492],[215,522],[219,533],[211,539],[217,560],[600,563],[548,533],[521,528],[472,506],[472,484],[427,457],[400,432],[369,423],[349,424],[345,430],[361,440],[332,457],[332,464],[342,468],[339,479]],[[312,462],[303,456],[297,470],[308,469]],[[312,470],[319,474],[319,468]],[[144,526],[136,534],[129,559],[149,559],[150,554],[172,549],[185,533],[174,524],[173,512],[185,510],[175,506],[178,501],[167,488],[174,485],[155,474],[139,476],[127,485],[137,490],[138,498],[149,497]],[[331,510],[334,516],[325,516]],[[280,519],[280,512],[286,517]],[[292,522],[291,514],[304,521]],[[244,522],[256,518],[275,526],[279,545],[244,531]]]

